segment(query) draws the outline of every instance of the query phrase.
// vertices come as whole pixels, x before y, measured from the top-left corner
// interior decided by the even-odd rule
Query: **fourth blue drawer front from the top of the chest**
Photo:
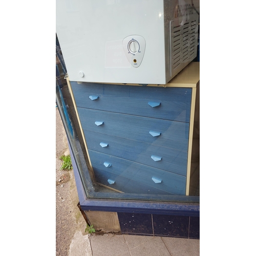
[[[129,160],[124,160],[118,157],[98,153],[92,150],[89,150],[89,156],[95,175],[97,172],[101,171],[108,173],[108,175],[110,173],[139,182],[143,188],[150,189],[151,187],[154,187],[173,195],[185,195],[186,177],[184,176],[135,163]],[[105,167],[103,164],[105,161],[111,163],[111,167]],[[107,177],[108,179],[113,179],[109,176]],[[152,180],[152,177],[159,178],[162,180],[162,182],[155,183]]]

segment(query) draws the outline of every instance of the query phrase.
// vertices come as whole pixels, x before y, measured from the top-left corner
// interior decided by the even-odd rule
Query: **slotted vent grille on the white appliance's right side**
[[[180,72],[197,56],[198,19],[192,18],[183,26],[170,22],[170,76]]]

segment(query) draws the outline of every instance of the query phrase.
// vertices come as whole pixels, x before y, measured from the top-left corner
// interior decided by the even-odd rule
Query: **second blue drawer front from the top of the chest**
[[[84,132],[92,131],[174,150],[188,150],[188,123],[82,108],[77,110]],[[103,121],[103,124],[97,126],[95,121]],[[158,131],[161,135],[153,137],[150,131]]]

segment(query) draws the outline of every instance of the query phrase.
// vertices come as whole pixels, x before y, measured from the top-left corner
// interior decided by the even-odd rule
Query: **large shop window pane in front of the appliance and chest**
[[[88,198],[199,202],[199,1],[183,2],[56,2],[56,102]]]

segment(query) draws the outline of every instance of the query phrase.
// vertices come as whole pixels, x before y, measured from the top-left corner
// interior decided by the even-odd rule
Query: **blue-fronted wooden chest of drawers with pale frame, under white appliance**
[[[71,81],[96,181],[123,193],[188,195],[198,84]]]

